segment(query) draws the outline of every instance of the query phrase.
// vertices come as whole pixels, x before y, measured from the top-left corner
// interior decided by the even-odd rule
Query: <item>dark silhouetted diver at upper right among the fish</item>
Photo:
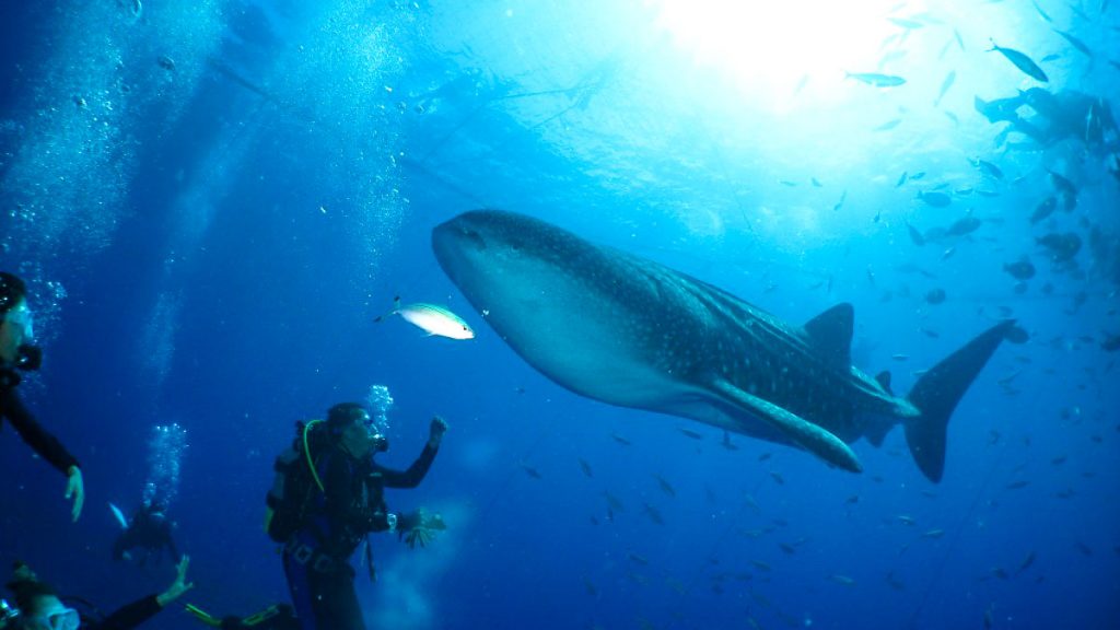
[[[1016,131],[1042,148],[1077,139],[1098,156],[1120,150],[1116,117],[1109,102],[1101,96],[1073,90],[1052,93],[1042,87],[1030,87],[1020,90],[1015,96],[993,101],[976,96],[973,105],[988,122],[1010,123],[1000,132],[1000,142]],[[1029,115],[1020,115],[1020,109]]]

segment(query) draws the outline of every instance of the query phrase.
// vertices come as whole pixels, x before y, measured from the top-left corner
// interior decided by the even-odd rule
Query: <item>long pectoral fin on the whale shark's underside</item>
[[[732,406],[769,423],[794,444],[825,462],[846,471],[862,472],[864,467],[859,465],[859,458],[851,448],[823,428],[727,381],[716,381],[712,388]]]

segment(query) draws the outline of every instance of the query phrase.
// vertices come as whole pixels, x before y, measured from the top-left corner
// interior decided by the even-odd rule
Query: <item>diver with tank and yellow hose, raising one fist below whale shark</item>
[[[364,630],[349,558],[374,531],[396,531],[409,547],[442,529],[438,515],[389,511],[385,488],[416,488],[436,458],[447,423],[435,417],[428,442],[405,471],[374,462],[389,447],[366,409],[335,405],[326,420],[297,424],[292,446],[276,461],[264,529],[283,545],[288,587],[302,630]],[[374,577],[370,546],[366,562]]]

